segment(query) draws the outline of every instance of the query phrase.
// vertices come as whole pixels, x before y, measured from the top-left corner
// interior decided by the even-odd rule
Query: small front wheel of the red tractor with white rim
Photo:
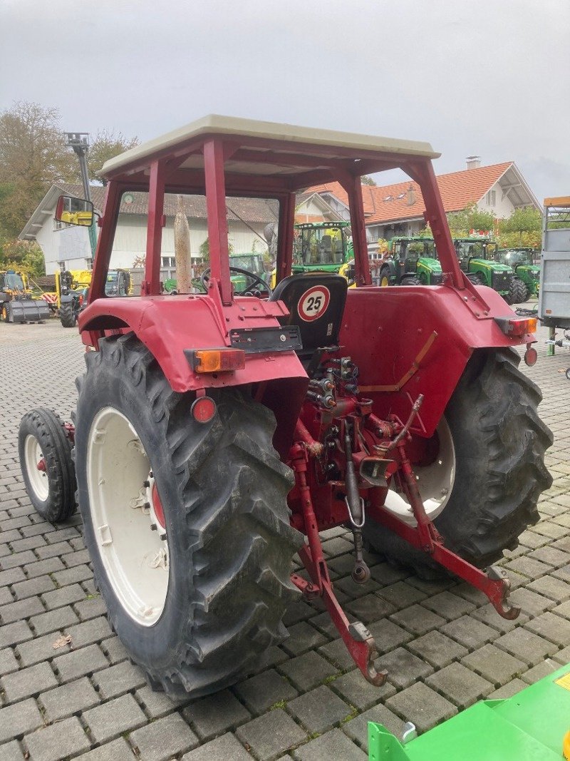
[[[59,416],[45,407],[27,412],[20,423],[18,451],[33,507],[50,523],[65,521],[76,508],[76,484],[71,441]]]

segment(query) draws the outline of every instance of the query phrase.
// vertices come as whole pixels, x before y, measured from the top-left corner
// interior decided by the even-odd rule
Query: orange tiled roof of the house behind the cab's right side
[[[485,193],[513,165],[512,161],[492,164],[490,167],[464,169],[460,172],[440,174],[435,179],[442,194],[443,207],[446,212],[458,212],[467,205],[480,201]],[[413,189],[414,201],[408,204],[408,189]],[[366,224],[416,219],[423,216],[426,206],[420,192],[420,186],[413,180],[394,185],[363,185],[363,205]],[[348,205],[347,192],[339,183],[326,183],[309,188],[306,193],[331,193],[340,202]]]

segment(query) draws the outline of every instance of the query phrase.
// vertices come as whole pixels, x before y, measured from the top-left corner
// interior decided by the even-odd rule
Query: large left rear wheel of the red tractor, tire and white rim
[[[75,463],[85,541],[109,621],[154,689],[235,683],[287,631],[297,598],[292,471],[273,412],[236,389],[192,417],[134,336],[100,342],[78,379]]]

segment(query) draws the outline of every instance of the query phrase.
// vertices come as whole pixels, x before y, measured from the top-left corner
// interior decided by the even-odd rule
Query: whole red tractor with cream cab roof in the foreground
[[[537,521],[551,482],[540,391],[514,348],[527,345],[534,363],[536,320],[459,269],[438,155],[422,142],[208,116],[103,167],[77,413],[65,425],[27,413],[20,451],[40,514],[59,521],[77,498],[109,621],[155,689],[201,696],[236,682],[287,634],[283,613],[301,595],[321,597],[381,684],[372,636],[334,594],[319,537],[331,527],[353,533],[356,583],[370,575],[364,544],[423,574],[451,572],[518,615],[492,562]],[[442,285],[371,285],[360,177],[394,167],[420,185]],[[334,273],[290,274],[296,193],[333,180],[350,200],[356,288]],[[207,210],[205,294],[163,295],[160,283],[181,195]],[[236,292],[226,199],[277,218],[273,292],[255,273]],[[138,296],[105,292],[122,203],[147,213]],[[62,198],[59,209],[90,224],[83,204]],[[296,553],[306,574],[291,572]]]

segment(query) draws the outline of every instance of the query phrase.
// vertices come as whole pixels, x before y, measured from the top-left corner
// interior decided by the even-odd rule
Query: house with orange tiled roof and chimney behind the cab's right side
[[[467,159],[467,169],[436,177],[445,212],[460,212],[476,204],[496,218],[507,218],[515,209],[534,206],[540,209],[534,193],[513,161],[481,167],[477,157]],[[414,235],[425,227],[420,186],[413,180],[392,185],[363,185],[366,237],[369,244],[394,235]],[[340,218],[348,219],[348,196],[339,183],[309,188],[305,195],[317,193]],[[298,208],[302,212],[302,206]]]

